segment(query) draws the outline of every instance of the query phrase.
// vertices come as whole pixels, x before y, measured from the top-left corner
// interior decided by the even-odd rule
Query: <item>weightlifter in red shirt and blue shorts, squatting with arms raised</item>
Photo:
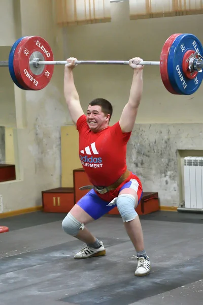
[[[93,187],[67,214],[62,221],[62,228],[65,233],[86,243],[75,259],[103,256],[106,254],[103,242],[93,236],[85,225],[117,206],[137,252],[135,257],[138,264],[134,274],[146,276],[150,272],[150,260],[135,210],[142,198],[142,184],[126,167],[126,146],[143,92],[143,66],[139,65],[142,59],[135,57],[129,60],[129,66],[133,69],[129,100],[119,121],[113,126],[109,126],[112,105],[106,99],[96,98],[91,101],[84,114],[74,84],[75,60],[73,57],[67,59],[64,68],[64,97],[79,132],[79,158]]]

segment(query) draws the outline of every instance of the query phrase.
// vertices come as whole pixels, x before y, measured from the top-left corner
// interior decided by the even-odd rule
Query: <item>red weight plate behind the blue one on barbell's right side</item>
[[[174,42],[174,40],[181,34],[173,34],[171,35],[166,42],[163,45],[161,56],[160,56],[160,73],[161,73],[161,79],[165,86],[165,88],[168,90],[168,92],[172,94],[178,94],[172,87],[170,80],[168,78],[168,70],[167,70],[167,62],[168,62],[168,53],[170,51],[170,48]]]

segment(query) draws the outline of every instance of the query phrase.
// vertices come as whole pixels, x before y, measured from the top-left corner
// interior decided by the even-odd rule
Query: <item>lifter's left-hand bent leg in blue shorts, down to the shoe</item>
[[[106,254],[103,242],[93,236],[85,225],[105,215],[111,208],[107,206],[106,201],[96,195],[94,190],[91,190],[74,205],[64,218],[62,222],[64,232],[87,243],[87,246],[75,255],[75,259]]]

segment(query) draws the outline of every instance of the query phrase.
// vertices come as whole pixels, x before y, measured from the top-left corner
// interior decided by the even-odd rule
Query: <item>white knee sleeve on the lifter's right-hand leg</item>
[[[123,221],[131,221],[138,216],[134,209],[136,206],[136,199],[134,199],[134,196],[130,194],[121,194],[116,200],[116,205]]]

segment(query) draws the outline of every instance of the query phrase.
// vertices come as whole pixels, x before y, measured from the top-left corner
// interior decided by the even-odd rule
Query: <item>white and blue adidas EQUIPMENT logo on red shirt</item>
[[[90,146],[87,146],[84,149],[80,150],[79,157],[82,165],[87,167],[102,167],[103,166],[102,159],[100,157],[96,158],[92,155],[98,155],[95,142],[91,143]]]

